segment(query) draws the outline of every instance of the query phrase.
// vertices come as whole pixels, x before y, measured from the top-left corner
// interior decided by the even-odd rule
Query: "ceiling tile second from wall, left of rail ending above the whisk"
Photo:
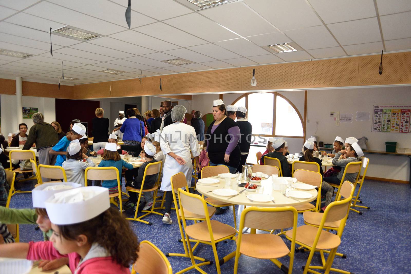
[[[377,18],[327,25],[341,45],[381,41]]]

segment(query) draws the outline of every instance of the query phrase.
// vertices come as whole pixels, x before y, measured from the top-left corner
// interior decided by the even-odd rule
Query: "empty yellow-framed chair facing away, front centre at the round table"
[[[259,259],[271,260],[284,273],[293,271],[294,248],[296,240],[298,213],[292,206],[279,208],[249,207],[242,211],[240,230],[244,227],[271,230],[293,228],[291,239],[291,251],[280,236],[275,234],[238,234],[236,237],[237,249],[234,262],[234,274],[237,274],[238,259],[240,254]],[[277,258],[290,256],[289,268],[283,265]]]

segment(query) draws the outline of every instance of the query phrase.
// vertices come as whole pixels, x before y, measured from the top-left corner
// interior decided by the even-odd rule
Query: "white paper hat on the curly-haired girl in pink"
[[[46,202],[48,218],[53,224],[78,224],[88,221],[110,208],[106,187],[78,187],[59,192]]]

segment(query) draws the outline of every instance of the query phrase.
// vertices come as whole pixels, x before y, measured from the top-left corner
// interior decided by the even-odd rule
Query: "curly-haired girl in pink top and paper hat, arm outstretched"
[[[2,244],[0,257],[68,258],[69,268],[76,274],[130,273],[139,242],[129,222],[110,207],[107,189],[67,190],[51,196],[45,205],[53,229],[50,241]]]

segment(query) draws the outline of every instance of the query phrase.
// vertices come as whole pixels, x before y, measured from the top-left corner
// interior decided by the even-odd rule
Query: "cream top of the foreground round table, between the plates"
[[[300,201],[296,201],[293,200],[291,198],[287,198],[285,196],[283,196],[283,194],[281,194],[279,192],[279,190],[272,190],[272,182],[271,182],[271,177],[269,177],[269,180],[266,181],[262,181],[262,183],[259,183],[257,185],[263,185],[264,187],[264,193],[263,194],[269,194],[272,197],[274,197],[274,201],[273,202],[256,202],[253,201],[251,202],[249,199],[247,199],[247,197],[245,196],[246,194],[253,194],[253,193],[257,193],[257,192],[248,192],[248,191],[244,191],[241,194],[231,198],[231,199],[227,199],[230,198],[230,196],[219,196],[219,195],[215,195],[212,192],[212,190],[218,189],[218,188],[229,188],[229,187],[225,187],[225,180],[218,178],[218,177],[210,177],[210,178],[215,178],[218,179],[220,182],[213,184],[213,185],[203,185],[201,183],[197,183],[196,184],[196,190],[198,192],[200,192],[201,194],[203,194],[205,197],[210,197],[212,199],[216,199],[218,201],[223,201],[223,202],[227,202],[227,203],[233,203],[236,205],[251,205],[251,206],[262,206],[262,207],[277,207],[277,206],[287,206],[287,205],[302,205],[304,203],[308,203],[311,201],[314,201],[317,198],[317,194],[318,192],[316,190],[298,190],[301,192],[307,192],[309,194],[312,195],[311,198],[309,199],[298,199]],[[244,183],[245,181],[241,180],[241,183]],[[234,185],[234,186],[233,186]],[[217,186],[217,187],[213,187],[213,186]],[[231,187],[234,190],[237,190],[238,192],[240,192],[241,190],[244,189],[244,187],[239,187],[237,184],[237,181],[235,178],[231,179]]]

